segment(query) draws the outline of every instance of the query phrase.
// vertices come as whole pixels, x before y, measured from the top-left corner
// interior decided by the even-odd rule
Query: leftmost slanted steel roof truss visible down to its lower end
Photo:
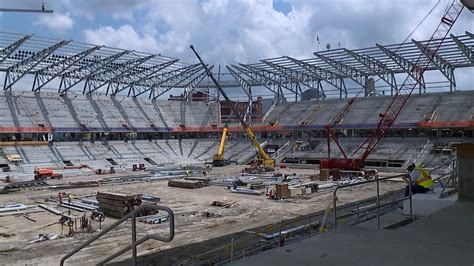
[[[32,70],[36,65],[41,63],[44,59],[46,59],[50,54],[52,54],[58,48],[70,43],[71,40],[68,41],[60,41],[55,45],[52,45],[48,48],[45,48],[39,52],[33,53],[30,57],[26,58],[25,60],[9,67],[7,69],[7,73],[5,74],[5,83],[3,85],[4,90],[11,89],[12,85],[15,84],[18,80],[20,80],[24,75],[26,75],[30,70]]]

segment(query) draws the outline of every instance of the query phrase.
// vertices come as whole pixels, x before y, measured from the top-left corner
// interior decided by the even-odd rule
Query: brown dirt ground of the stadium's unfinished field
[[[242,166],[227,166],[214,168],[210,176],[230,177],[239,173]],[[282,169],[282,173],[297,175],[315,174],[316,170]],[[66,178],[69,179],[69,178]],[[70,178],[70,180],[80,178]],[[381,192],[400,189],[401,182],[387,181],[381,184]],[[141,193],[155,195],[161,198],[160,205],[170,207],[175,213],[176,235],[172,242],[163,243],[148,241],[139,246],[139,254],[156,252],[170,247],[200,242],[233,232],[243,231],[256,226],[277,222],[282,219],[293,218],[298,215],[326,209],[332,203],[332,189],[320,190],[310,196],[292,198],[285,201],[267,199],[265,196],[253,196],[231,193],[224,187],[209,186],[199,189],[183,189],[168,187],[167,181],[124,184],[93,188],[69,189],[75,198],[94,198],[97,191],[115,191],[121,193]],[[339,204],[375,196],[375,184],[357,186],[341,190]],[[45,203],[45,199],[55,199],[58,191],[26,190],[17,193],[0,195],[0,204],[18,202],[26,205]],[[231,208],[210,206],[214,200],[232,200],[236,204]],[[53,204],[49,202],[48,204]],[[58,209],[61,209],[58,207]],[[31,209],[30,209],[31,210]],[[68,228],[62,228],[58,223],[59,216],[34,209],[37,212],[22,215],[0,216],[0,264],[1,265],[54,265],[58,264],[62,256],[68,251],[85,242],[99,230],[98,222],[93,221],[95,233],[77,232],[73,237],[61,237],[32,243],[39,234],[67,235]],[[207,217],[204,213],[212,213]],[[71,211],[71,215],[81,217],[82,214]],[[34,220],[34,221],[32,221]],[[115,219],[106,218],[102,227],[115,222]],[[166,234],[168,223],[149,225],[137,223],[138,238],[150,233]],[[104,235],[91,246],[80,251],[68,261],[68,265],[91,265],[118,251],[131,243],[131,225],[126,222],[117,229]],[[129,257],[127,253],[122,258]]]

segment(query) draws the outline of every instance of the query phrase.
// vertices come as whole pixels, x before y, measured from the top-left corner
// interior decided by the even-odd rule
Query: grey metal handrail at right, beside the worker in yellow
[[[375,200],[376,200],[376,203],[375,203],[375,213],[376,213],[376,217],[377,217],[377,228],[380,229],[380,209],[383,208],[383,207],[386,207],[387,205],[394,205],[395,203],[398,203],[398,202],[401,202],[401,201],[404,201],[404,200],[409,200],[410,201],[410,219],[413,220],[413,202],[412,202],[412,182],[411,180],[408,178],[408,183],[409,183],[409,186],[408,186],[408,196],[407,197],[402,197],[400,199],[397,199],[395,200],[394,197],[392,197],[392,201],[388,204],[383,204],[381,205],[380,204],[380,181],[384,181],[384,180],[390,180],[390,179],[394,179],[394,178],[400,178],[400,177],[406,177],[407,175],[406,174],[401,174],[401,175],[395,175],[395,176],[389,176],[389,177],[382,177],[382,178],[379,178],[378,176],[375,177],[375,179],[372,179],[372,180],[367,180],[367,181],[362,181],[362,182],[358,182],[358,183],[353,183],[353,184],[347,184],[347,185],[341,185],[341,186],[337,186],[335,189],[334,189],[334,192],[333,192],[333,219],[334,219],[334,229],[337,228],[337,220],[338,218],[341,218],[341,217],[338,217],[337,216],[337,201],[338,201],[338,198],[337,198],[337,191],[340,190],[340,189],[343,189],[343,188],[348,188],[348,187],[355,187],[355,186],[360,186],[360,185],[365,185],[365,184],[369,184],[369,183],[375,183],[376,184],[376,195],[375,195]],[[366,212],[365,209],[360,209],[359,206],[357,206],[357,209],[355,210],[355,212],[352,213],[352,215],[359,215],[360,213],[363,213],[363,212]]]

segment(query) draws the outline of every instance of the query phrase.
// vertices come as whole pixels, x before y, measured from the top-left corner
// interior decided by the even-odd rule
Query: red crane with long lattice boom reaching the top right
[[[461,3],[462,2],[462,3]],[[342,148],[338,141],[338,136],[333,132],[333,127],[342,123],[344,115],[349,111],[350,107],[354,103],[354,99],[348,101],[343,109],[332,119],[332,121],[326,125],[326,137],[328,145],[328,158],[321,160],[320,169],[336,170],[336,174],[339,174],[339,170],[361,170],[365,166],[365,160],[374,150],[375,146],[385,136],[391,126],[394,124],[395,119],[400,114],[401,110],[405,106],[408,98],[410,97],[413,90],[419,85],[423,78],[423,73],[426,71],[428,66],[437,57],[437,52],[443,41],[449,34],[449,31],[453,27],[457,18],[461,14],[466,1],[458,2],[456,0],[446,9],[443,17],[441,18],[438,27],[429,39],[428,43],[424,45],[423,52],[416,59],[413,67],[408,70],[408,75],[404,80],[403,84],[398,88],[395,95],[392,98],[389,106],[385,112],[379,114],[379,121],[377,128],[369,135],[369,137],[353,152],[356,154],[359,150],[363,150],[360,157],[349,158],[347,153]],[[468,7],[469,8],[469,7]],[[436,39],[435,38],[440,38]],[[331,142],[334,141],[341,151],[344,158],[331,158]]]

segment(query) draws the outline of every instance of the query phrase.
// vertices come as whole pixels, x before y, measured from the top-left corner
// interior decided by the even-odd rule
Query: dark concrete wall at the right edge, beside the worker
[[[459,160],[459,201],[474,202],[474,143],[457,146]]]

